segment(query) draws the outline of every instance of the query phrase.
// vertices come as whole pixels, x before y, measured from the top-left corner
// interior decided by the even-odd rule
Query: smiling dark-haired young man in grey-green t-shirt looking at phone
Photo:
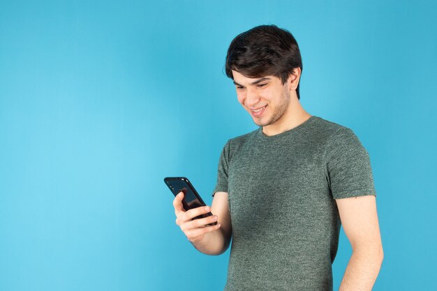
[[[368,152],[351,129],[302,108],[301,73],[286,30],[257,26],[232,40],[226,74],[259,128],[225,144],[211,209],[185,212],[183,194],[174,200],[177,225],[202,253],[223,253],[232,237],[225,290],[332,290],[341,224],[353,254],[340,290],[371,290],[378,276]]]

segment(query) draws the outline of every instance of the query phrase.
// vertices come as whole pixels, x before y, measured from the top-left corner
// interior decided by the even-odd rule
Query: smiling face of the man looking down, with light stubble
[[[278,121],[290,104],[288,83],[274,76],[248,78],[232,70],[238,102],[242,104],[253,122],[265,127]]]

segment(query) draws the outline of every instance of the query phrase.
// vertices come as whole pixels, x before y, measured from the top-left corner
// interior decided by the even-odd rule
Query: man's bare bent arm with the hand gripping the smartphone
[[[211,212],[217,217],[216,226],[205,226],[213,222],[213,217],[193,219],[199,214],[209,212],[209,207],[197,207],[192,210],[184,211],[182,207],[184,194],[179,194],[173,200],[176,223],[182,229],[186,237],[198,251],[207,255],[220,255],[224,253],[230,244],[232,237],[232,226],[228,207],[228,193],[216,192],[212,200]]]

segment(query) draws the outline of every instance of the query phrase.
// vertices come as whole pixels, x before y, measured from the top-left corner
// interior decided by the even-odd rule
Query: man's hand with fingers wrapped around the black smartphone
[[[194,217],[210,212],[211,207],[200,206],[185,211],[182,206],[183,198],[184,192],[181,191],[177,194],[175,200],[173,200],[173,206],[175,207],[176,224],[181,228],[190,242],[200,242],[206,233],[211,233],[220,228],[220,223],[217,223],[215,226],[206,226],[209,223],[217,221],[216,215],[192,220]]]

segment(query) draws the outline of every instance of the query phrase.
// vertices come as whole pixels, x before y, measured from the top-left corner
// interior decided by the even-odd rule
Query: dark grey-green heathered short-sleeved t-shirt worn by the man
[[[225,290],[332,290],[341,221],[334,199],[375,195],[369,154],[317,116],[281,134],[230,139],[218,162],[232,246]]]

